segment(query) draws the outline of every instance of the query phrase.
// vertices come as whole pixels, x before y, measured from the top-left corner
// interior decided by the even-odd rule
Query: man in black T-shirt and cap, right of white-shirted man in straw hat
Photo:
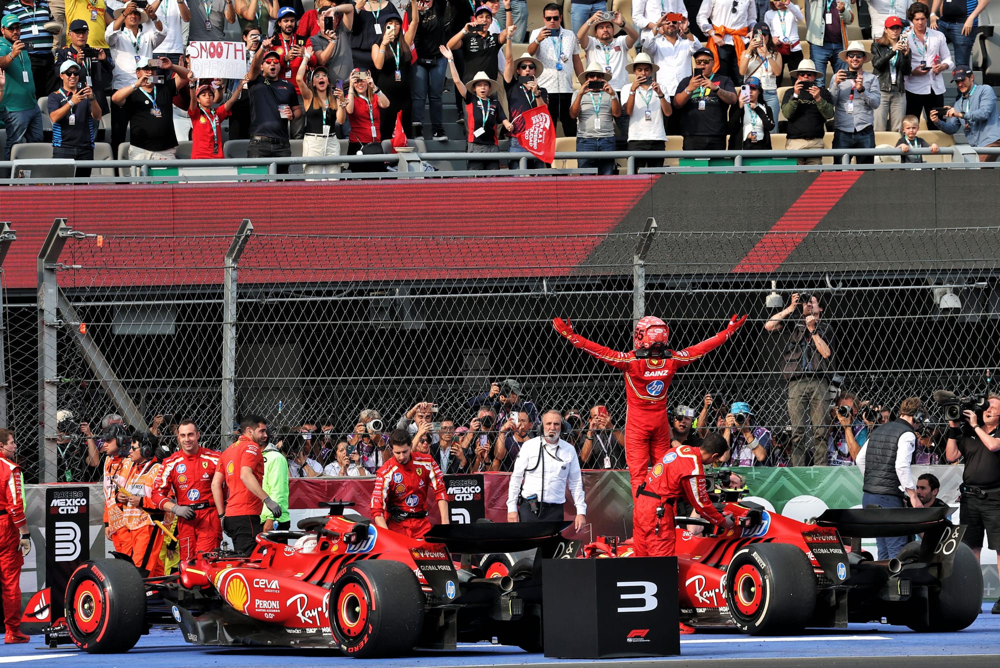
[[[713,71],[714,62],[709,49],[695,51],[694,64],[700,68],[699,71],[677,85],[673,105],[681,114],[680,128],[685,151],[726,149],[729,105],[739,104],[739,97],[732,79]]]

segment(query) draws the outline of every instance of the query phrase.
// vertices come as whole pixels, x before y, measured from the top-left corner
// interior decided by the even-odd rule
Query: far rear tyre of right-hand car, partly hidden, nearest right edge
[[[946,546],[947,549],[947,546]],[[983,572],[979,560],[965,543],[954,544],[955,557],[951,573],[941,580],[940,587],[931,587],[927,601],[927,622],[911,619],[907,622],[921,633],[961,631],[976,621],[983,607]],[[896,558],[906,563],[920,554],[920,543],[907,544]]]

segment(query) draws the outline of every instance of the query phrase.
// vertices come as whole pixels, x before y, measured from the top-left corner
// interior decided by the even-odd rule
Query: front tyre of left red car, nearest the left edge
[[[146,630],[146,587],[139,570],[121,559],[81,564],[66,585],[70,638],[92,654],[127,652]]]

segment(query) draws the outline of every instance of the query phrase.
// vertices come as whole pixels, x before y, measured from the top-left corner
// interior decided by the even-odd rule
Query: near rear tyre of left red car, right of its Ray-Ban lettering
[[[424,621],[424,594],[398,561],[348,565],[330,591],[330,630],[347,656],[401,656],[413,650]]]

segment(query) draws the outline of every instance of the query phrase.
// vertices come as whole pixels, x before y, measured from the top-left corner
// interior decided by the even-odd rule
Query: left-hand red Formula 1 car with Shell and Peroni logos
[[[493,637],[541,649],[541,582],[528,572],[484,578],[455,557],[555,556],[568,523],[442,525],[422,542],[345,516],[350,503],[325,505],[330,514],[300,521],[300,531],[260,534],[248,557],[204,553],[166,577],[144,580],[116,559],[82,564],[66,589],[70,637],[88,652],[124,652],[160,622],[196,645],[337,647],[355,657]]]

